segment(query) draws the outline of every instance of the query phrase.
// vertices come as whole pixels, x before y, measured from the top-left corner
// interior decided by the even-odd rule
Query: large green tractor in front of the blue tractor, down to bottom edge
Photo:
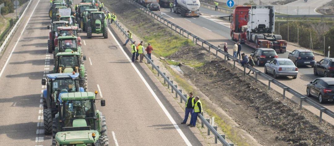
[[[108,146],[106,118],[96,110],[97,91],[64,93],[52,122],[53,146]]]

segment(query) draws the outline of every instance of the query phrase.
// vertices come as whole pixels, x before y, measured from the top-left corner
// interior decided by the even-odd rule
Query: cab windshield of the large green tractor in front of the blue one
[[[73,127],[73,119],[85,119],[94,117],[94,108],[92,100],[79,100],[79,101],[64,101],[63,111],[65,119],[65,127]],[[86,119],[89,126],[92,123],[91,120]]]

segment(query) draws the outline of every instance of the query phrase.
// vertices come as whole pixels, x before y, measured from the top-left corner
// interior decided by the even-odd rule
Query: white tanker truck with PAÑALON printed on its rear
[[[183,17],[199,17],[201,13],[198,10],[200,5],[199,0],[175,0],[174,13],[181,14]]]

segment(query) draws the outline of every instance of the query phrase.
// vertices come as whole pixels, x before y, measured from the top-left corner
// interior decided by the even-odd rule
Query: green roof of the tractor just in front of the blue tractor
[[[95,99],[93,92],[70,92],[61,94],[61,101],[92,100]]]

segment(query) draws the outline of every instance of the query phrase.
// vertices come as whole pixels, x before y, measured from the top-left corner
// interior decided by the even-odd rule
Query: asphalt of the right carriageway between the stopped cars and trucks
[[[175,13],[170,12],[169,8],[162,8],[161,11],[156,11],[159,15],[161,15],[161,12],[163,12],[163,17],[168,19],[169,21],[179,25],[180,27],[186,29],[187,31],[197,35],[198,37],[210,42],[211,44],[218,46],[218,44],[223,46],[224,42],[228,43],[229,46],[229,54],[232,54],[232,46],[234,43],[230,40],[230,28],[229,24],[226,21],[218,20],[215,17],[219,12],[210,10],[207,8],[200,8],[200,11],[203,13],[202,16],[198,18],[193,17],[181,17],[180,15],[177,15]],[[221,13],[221,15],[224,15]],[[293,51],[295,49],[298,49],[298,47],[288,45],[288,51]],[[251,54],[252,51],[255,49],[248,47],[246,45],[242,45],[242,52],[245,54]],[[214,50],[211,50],[215,53]],[[289,55],[289,52],[278,54],[280,58],[287,58]],[[223,57],[223,55],[221,55]],[[323,58],[323,56],[316,55],[315,54],[316,61],[319,61]],[[258,70],[264,71],[263,66],[255,66]],[[296,90],[297,92],[306,95],[306,85],[313,81],[316,78],[320,78],[320,76],[314,76],[313,75],[313,68],[310,66],[301,66],[299,67],[299,74],[297,79],[293,80],[291,77],[279,77],[277,80],[281,83],[287,85],[288,87]],[[266,81],[268,82],[268,81]],[[282,92],[281,89],[277,89],[279,92]],[[311,98],[313,100],[316,100],[316,98]],[[330,110],[334,110],[334,105],[332,103],[326,103],[322,104],[326,108]],[[319,115],[319,110],[313,108],[312,106],[307,106],[307,109],[313,112],[314,114]],[[327,121],[333,122],[334,120],[332,118],[327,119]]]

